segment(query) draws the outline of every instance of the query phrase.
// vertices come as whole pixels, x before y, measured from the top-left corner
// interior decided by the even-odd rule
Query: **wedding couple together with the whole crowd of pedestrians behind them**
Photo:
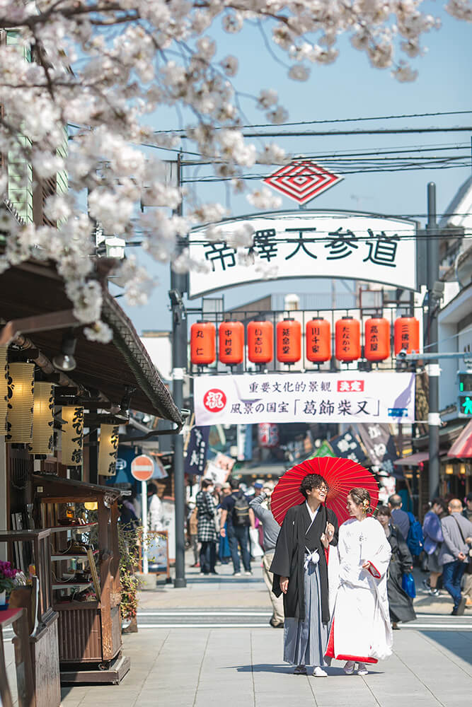
[[[313,666],[313,675],[326,677],[333,658],[345,661],[347,674],[367,674],[391,654],[392,630],[416,618],[412,552],[427,558],[430,595],[442,580],[454,616],[472,606],[472,493],[466,508],[457,498],[435,498],[421,528],[398,494],[373,513],[369,492],[351,489],[350,519],[339,526],[325,505],[323,477],[308,474],[299,490],[305,502],[289,508],[282,527],[270,510],[273,484],[262,480],[251,495],[236,479],[218,489],[203,479],[190,515],[194,566],[203,574],[217,573],[219,557],[231,559],[234,576],[241,561],[251,575],[255,548],[263,552],[270,625],[284,629],[284,661],[294,674]]]

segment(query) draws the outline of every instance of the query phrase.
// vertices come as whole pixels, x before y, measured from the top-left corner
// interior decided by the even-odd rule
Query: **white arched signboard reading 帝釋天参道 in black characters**
[[[237,247],[250,230],[250,245]],[[330,277],[418,289],[418,223],[355,211],[275,211],[227,219],[190,232],[189,296],[267,279]],[[246,231],[247,233],[247,231]],[[233,244],[233,245],[231,245]]]

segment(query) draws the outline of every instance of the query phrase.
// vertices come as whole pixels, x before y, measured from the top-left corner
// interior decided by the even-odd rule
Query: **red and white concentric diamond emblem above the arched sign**
[[[297,204],[306,204],[342,179],[310,160],[293,160],[263,181]]]

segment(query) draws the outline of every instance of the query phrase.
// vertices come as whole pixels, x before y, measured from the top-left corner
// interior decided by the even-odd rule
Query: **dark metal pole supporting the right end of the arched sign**
[[[434,284],[439,279],[439,240],[436,223],[436,185],[427,185],[427,353],[437,354],[437,310],[439,299]],[[432,358],[427,364],[429,378],[429,412],[427,416],[430,436],[430,499],[439,495],[439,362]]]

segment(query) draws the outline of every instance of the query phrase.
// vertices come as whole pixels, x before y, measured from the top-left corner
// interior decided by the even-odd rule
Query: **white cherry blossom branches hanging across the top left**
[[[102,291],[91,258],[96,225],[139,240],[146,253],[176,269],[205,269],[207,263],[180,253],[178,239],[202,223],[209,240],[221,239],[212,224],[229,216],[221,204],[199,203],[190,189],[185,218],[178,216],[183,194],[166,182],[165,164],[149,154],[153,147],[178,150],[184,129],[185,148],[211,162],[234,194],[256,163],[287,161],[277,146],[243,136],[243,100],[251,98],[238,93],[244,89],[236,83],[238,57],[217,43],[221,25],[226,33],[246,23],[260,27],[260,50],[272,43],[278,60],[284,53],[296,81],[309,78],[310,64],[334,62],[342,37],[374,67],[413,81],[410,62],[425,52],[427,33],[440,27],[431,7],[425,0],[0,0],[0,29],[8,33],[0,43],[0,153],[23,177],[32,169],[38,187],[50,189],[45,216],[52,221],[15,223],[0,211],[0,230],[8,234],[0,271],[31,258],[54,262],[86,335],[105,341],[110,330],[100,322]],[[446,11],[472,22],[469,0],[448,0]],[[252,100],[267,121],[287,121],[273,86],[258,88]],[[161,108],[175,111],[174,132],[156,132],[153,117]],[[56,175],[68,192],[51,188]],[[2,174],[6,197],[7,188]],[[255,209],[280,204],[266,187],[248,199]],[[144,200],[152,208],[143,213]],[[234,239],[248,264],[251,238],[241,227]],[[117,278],[133,303],[143,302],[154,284],[130,258]]]

